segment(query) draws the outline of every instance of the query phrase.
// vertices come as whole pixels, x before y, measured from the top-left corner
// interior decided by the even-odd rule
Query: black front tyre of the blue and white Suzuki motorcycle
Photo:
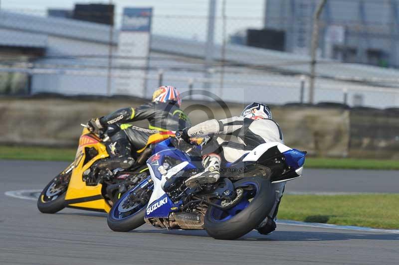
[[[113,207],[112,207],[113,209]],[[107,218],[107,223],[108,227],[115,232],[129,232],[131,230],[134,230],[142,225],[144,225],[146,222],[144,221],[144,216],[146,214],[146,209],[147,205],[138,211],[135,215],[132,215],[126,219],[115,219],[112,217],[112,209],[108,213],[108,218]]]

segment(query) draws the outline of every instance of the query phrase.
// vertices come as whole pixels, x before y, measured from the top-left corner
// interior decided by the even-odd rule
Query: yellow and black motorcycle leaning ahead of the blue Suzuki
[[[101,178],[93,185],[86,181],[85,171],[109,154],[103,139],[84,128],[75,161],[47,184],[37,200],[37,208],[42,213],[56,213],[65,207],[108,213],[125,191],[147,177],[145,162],[152,146],[174,135],[171,131],[150,135],[147,144],[136,151],[137,159],[131,168],[117,171],[111,178]]]

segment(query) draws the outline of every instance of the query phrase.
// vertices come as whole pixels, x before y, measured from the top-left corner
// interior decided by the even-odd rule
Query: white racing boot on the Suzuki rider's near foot
[[[205,168],[192,177],[189,177],[185,184],[189,188],[195,188],[201,184],[215,183],[220,177],[220,156],[218,154],[208,154],[202,158],[202,165]]]

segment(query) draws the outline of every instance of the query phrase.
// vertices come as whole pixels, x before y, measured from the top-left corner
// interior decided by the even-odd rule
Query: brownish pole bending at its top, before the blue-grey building
[[[314,103],[315,94],[315,75],[316,75],[316,52],[319,47],[319,20],[321,12],[323,11],[324,5],[327,0],[322,0],[313,15],[313,31],[312,31],[312,44],[310,50],[310,80],[309,80],[309,103]]]

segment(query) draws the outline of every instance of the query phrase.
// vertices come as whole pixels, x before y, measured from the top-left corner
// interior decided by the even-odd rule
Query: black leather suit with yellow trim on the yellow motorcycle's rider
[[[149,129],[132,126],[131,122],[148,120]],[[149,136],[159,131],[177,131],[191,126],[188,116],[174,101],[150,102],[137,108],[124,108],[100,118],[110,137],[107,151],[110,157],[96,165],[101,168],[129,168],[137,150],[143,148]]]

